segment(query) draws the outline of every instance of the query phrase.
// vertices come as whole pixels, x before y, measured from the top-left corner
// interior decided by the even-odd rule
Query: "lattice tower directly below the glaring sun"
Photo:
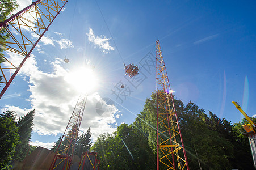
[[[87,95],[81,95],[79,97],[49,169],[64,170],[70,168],[75,142],[78,138],[78,132],[83,117],[83,111],[85,111],[86,100]]]

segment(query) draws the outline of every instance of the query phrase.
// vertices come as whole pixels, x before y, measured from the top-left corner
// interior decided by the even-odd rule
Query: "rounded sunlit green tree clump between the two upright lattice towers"
[[[147,137],[135,125],[121,124],[113,134],[101,134],[93,145],[102,169],[154,169],[156,157]]]

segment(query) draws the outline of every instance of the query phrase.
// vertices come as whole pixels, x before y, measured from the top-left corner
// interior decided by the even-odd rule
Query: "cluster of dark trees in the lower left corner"
[[[35,147],[30,146],[35,109],[16,121],[14,111],[0,114],[0,169],[10,169],[11,159],[22,161]]]

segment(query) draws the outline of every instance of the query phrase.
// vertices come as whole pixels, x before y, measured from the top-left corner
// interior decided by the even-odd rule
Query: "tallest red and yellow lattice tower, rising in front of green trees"
[[[159,40],[156,41],[157,67],[157,170],[189,169],[181,130],[173,103]],[[160,164],[161,163],[161,164]]]

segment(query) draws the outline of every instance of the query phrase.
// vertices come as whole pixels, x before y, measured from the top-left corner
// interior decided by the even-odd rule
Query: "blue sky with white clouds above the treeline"
[[[31,2],[18,1],[21,8]],[[95,66],[98,87],[90,93],[81,130],[91,126],[94,139],[111,133],[121,122],[131,124],[156,90],[151,61],[159,39],[177,99],[238,122],[242,115],[232,101],[249,116],[256,113],[255,19],[254,1],[68,1],[0,106],[18,116],[35,108],[33,145],[50,147],[64,133],[79,96],[66,75]],[[144,65],[136,79],[124,75],[122,59]],[[126,86],[118,98],[120,83]],[[97,103],[103,103],[103,114]]]

